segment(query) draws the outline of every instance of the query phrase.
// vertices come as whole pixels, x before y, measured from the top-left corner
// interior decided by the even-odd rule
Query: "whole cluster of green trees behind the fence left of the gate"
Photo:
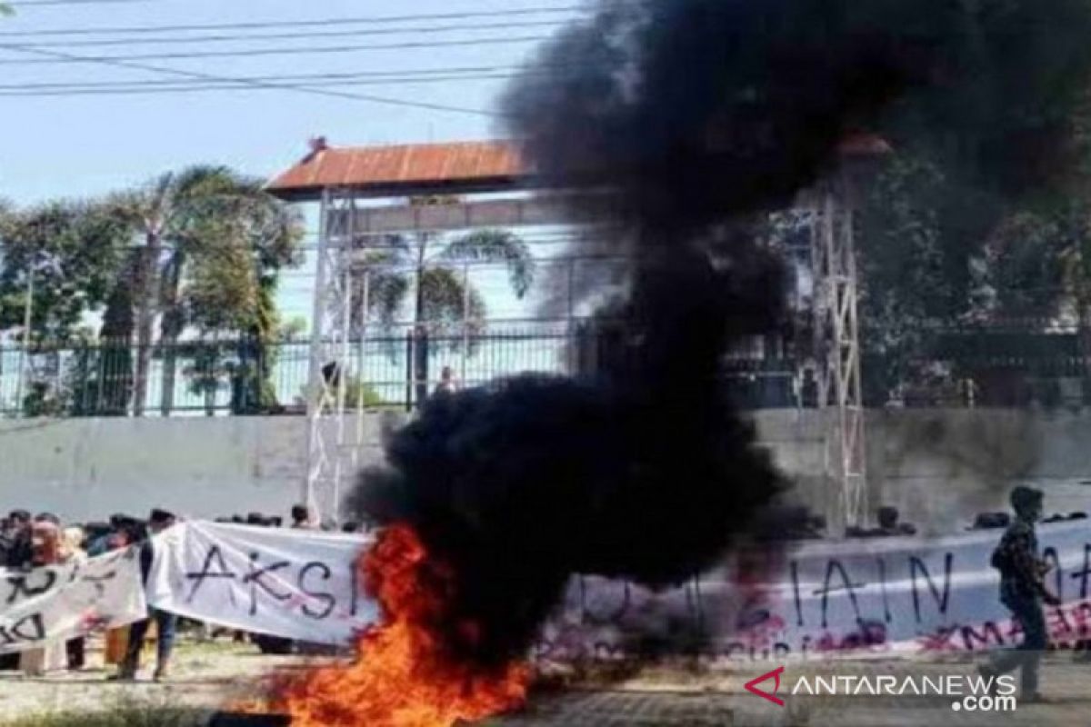
[[[82,413],[124,414],[130,403],[143,410],[155,338],[165,343],[167,411],[188,331],[237,341],[218,348],[216,361],[199,362],[192,388],[227,379],[237,411],[262,411],[276,403],[268,377],[279,272],[300,262],[301,238],[296,213],[259,180],[224,167],[191,167],[104,199],[2,207],[0,332],[23,332],[33,277],[32,340],[74,342],[88,316],[101,314],[103,346],[81,349],[72,364],[97,377],[69,387],[82,392],[72,397]]]

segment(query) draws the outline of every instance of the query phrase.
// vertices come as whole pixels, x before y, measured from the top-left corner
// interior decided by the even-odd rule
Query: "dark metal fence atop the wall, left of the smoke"
[[[572,372],[566,325],[493,327],[466,336],[409,329],[350,341],[347,403],[406,408],[418,387],[434,389],[449,368],[473,386],[525,371]],[[427,346],[427,351],[421,351]],[[185,416],[302,413],[310,342],[200,340],[152,347],[148,374],[136,379],[140,349],[127,341],[38,347],[0,346],[0,414],[7,416]],[[423,379],[417,380],[423,366]],[[325,362],[324,362],[325,363]],[[329,362],[332,363],[332,362]],[[135,396],[143,385],[143,407]]]

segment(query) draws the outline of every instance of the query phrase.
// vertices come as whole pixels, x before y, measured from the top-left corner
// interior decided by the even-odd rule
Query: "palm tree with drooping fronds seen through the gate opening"
[[[430,338],[463,327],[468,334],[484,327],[484,298],[469,281],[466,266],[504,264],[512,290],[519,298],[526,295],[535,278],[529,246],[506,230],[478,230],[453,240],[436,233],[391,235],[380,245],[369,247],[360,259],[353,275],[353,298],[359,300],[363,295],[367,278],[369,318],[381,328],[394,327],[412,293],[413,335],[407,399],[411,400],[416,391],[417,402],[428,397]],[[368,322],[357,308],[353,316],[352,328],[359,334],[361,324]]]

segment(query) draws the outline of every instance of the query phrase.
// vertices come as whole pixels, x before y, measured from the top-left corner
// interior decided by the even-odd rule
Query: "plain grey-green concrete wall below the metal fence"
[[[837,507],[823,478],[822,415],[766,411],[762,440],[796,481],[795,497]],[[1006,410],[868,413],[870,500],[933,530],[1003,509],[1035,482],[1048,510],[1091,511],[1091,414]],[[365,419],[361,463],[377,461],[393,422]],[[302,416],[67,420],[0,423],[0,509],[99,519],[164,506],[193,517],[287,513],[305,474]],[[1089,484],[1081,484],[1081,483]],[[831,518],[832,521],[832,518]]]

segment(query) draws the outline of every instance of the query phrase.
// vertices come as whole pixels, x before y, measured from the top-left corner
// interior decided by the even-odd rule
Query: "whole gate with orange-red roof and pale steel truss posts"
[[[332,149],[319,140],[312,147],[311,155],[275,180],[269,189],[285,199],[321,203],[303,496],[319,517],[336,521],[343,477],[355,472],[365,446],[363,387],[357,387],[361,400],[355,407],[355,431],[348,421],[346,396],[353,374],[350,371],[352,346],[360,346],[357,358],[362,361],[367,339],[362,328],[353,329],[353,322],[368,319],[365,307],[360,308],[362,317],[353,317],[353,306],[367,306],[368,302],[368,266],[355,265],[355,257],[365,247],[367,241],[401,232],[538,227],[568,225],[574,220],[566,214],[570,205],[562,197],[538,189],[540,180],[523,168],[516,150],[503,143]],[[862,161],[888,150],[886,143],[875,137],[847,140],[841,148],[846,168],[801,201],[801,207],[811,211],[814,226],[811,235],[812,314],[818,405],[828,415],[826,475],[831,487],[838,490],[838,513],[844,525],[862,524],[867,511],[852,221],[855,190],[853,175],[849,172],[853,168],[859,170]],[[394,163],[392,159],[399,161]],[[538,189],[539,193],[528,196],[529,189]],[[494,193],[515,196],[483,196]],[[361,204],[380,198],[405,201],[430,194],[449,195],[455,202],[434,206],[404,202]],[[465,195],[482,196],[467,198]],[[589,214],[588,219],[576,222],[594,223],[595,217]],[[574,315],[573,270],[574,267],[570,267],[570,335]],[[467,280],[468,268],[460,272],[463,280]],[[361,300],[353,301],[355,295]],[[468,328],[464,330],[466,335]],[[468,340],[463,341],[464,350],[468,350]],[[412,352],[409,355],[411,359]],[[570,350],[570,358],[572,355]],[[464,361],[464,380],[465,365]],[[419,372],[412,373],[410,378],[412,384],[422,384]]]

